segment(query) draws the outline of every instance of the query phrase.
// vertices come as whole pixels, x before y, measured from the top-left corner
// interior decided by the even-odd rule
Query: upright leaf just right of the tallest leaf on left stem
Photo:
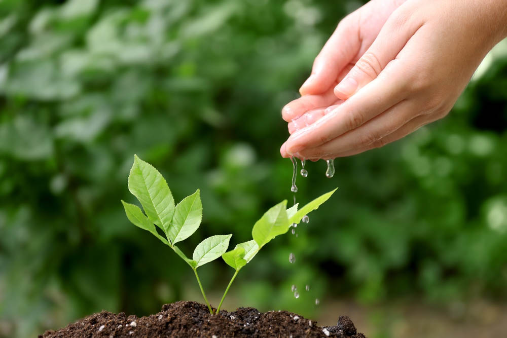
[[[176,205],[167,237],[172,244],[183,241],[195,233],[202,219],[199,189]]]

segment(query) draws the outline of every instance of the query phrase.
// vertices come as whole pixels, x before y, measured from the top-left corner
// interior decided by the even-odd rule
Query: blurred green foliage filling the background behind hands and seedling
[[[176,199],[201,189],[203,226],[186,252],[210,234],[233,233],[231,247],[249,239],[263,210],[292,200],[279,110],[360,5],[1,2],[0,336],[102,309],[146,315],[197,290],[184,262],[123,213],[133,155]],[[337,160],[331,180],[322,161],[307,164],[298,201],[340,190],[232,292],[244,306],[303,314],[315,297],[505,297],[506,127],[503,41],[443,121]],[[222,289],[229,271],[212,265],[204,287]],[[293,283],[311,290],[295,299]]]

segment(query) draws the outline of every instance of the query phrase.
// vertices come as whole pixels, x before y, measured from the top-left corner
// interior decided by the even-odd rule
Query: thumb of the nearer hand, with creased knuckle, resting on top
[[[336,97],[346,100],[378,77],[420,27],[411,24],[408,18],[400,10],[389,17],[370,48],[335,87]]]

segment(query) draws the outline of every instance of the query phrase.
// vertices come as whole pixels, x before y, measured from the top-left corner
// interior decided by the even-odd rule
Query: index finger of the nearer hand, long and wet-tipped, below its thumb
[[[289,154],[313,148],[328,142],[347,131],[373,119],[406,97],[407,71],[401,61],[395,60],[363,90],[344,101],[314,124],[305,127],[287,139],[285,149]]]

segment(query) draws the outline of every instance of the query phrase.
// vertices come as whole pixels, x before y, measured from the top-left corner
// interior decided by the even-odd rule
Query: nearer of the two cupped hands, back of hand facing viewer
[[[444,117],[486,53],[507,34],[506,27],[504,0],[405,2],[334,88],[335,97],[345,101],[301,112],[300,119],[311,124],[298,131],[303,121],[295,116],[282,156],[350,156]],[[328,89],[318,103],[331,98]]]

